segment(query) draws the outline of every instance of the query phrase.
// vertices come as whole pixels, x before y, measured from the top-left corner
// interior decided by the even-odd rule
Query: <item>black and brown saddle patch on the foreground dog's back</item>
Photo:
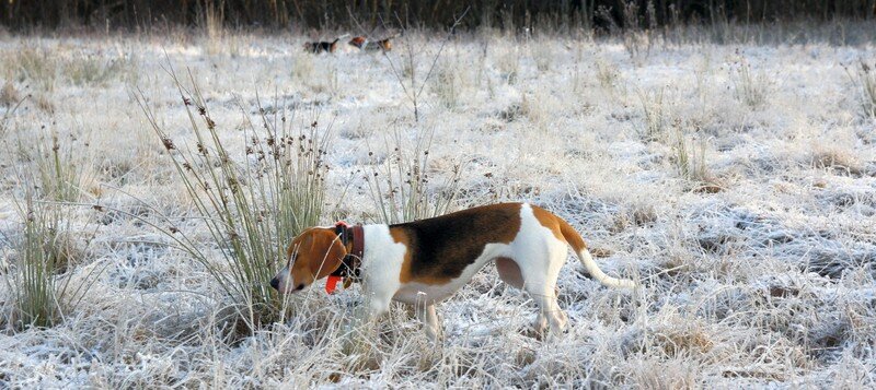
[[[485,205],[390,226],[407,248],[399,280],[429,285],[459,277],[487,244],[508,244],[520,232],[520,203]]]

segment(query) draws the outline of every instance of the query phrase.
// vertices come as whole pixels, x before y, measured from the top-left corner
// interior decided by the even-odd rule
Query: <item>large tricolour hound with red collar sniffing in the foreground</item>
[[[492,261],[505,283],[539,306],[537,334],[558,334],[568,319],[555,289],[567,247],[602,285],[636,285],[603,273],[563,218],[528,203],[500,203],[395,225],[311,227],[292,239],[270,286],[292,294],[326,276],[350,277],[361,282],[367,319],[389,311],[392,300],[415,305],[427,335],[438,341],[435,305]]]

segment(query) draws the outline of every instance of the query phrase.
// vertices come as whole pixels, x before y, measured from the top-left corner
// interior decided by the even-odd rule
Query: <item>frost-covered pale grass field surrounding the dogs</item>
[[[874,63],[873,43],[657,40],[632,60],[620,39],[463,34],[426,81],[435,36],[408,33],[414,67],[399,69],[425,85],[418,122],[382,55],[307,55],[301,36],[0,40],[0,85],[14,95],[0,104],[0,276],[21,257],[16,173],[34,165],[19,145],[54,133],[89,178],[64,221],[88,246],[62,276],[102,269],[56,326],[0,322],[0,387],[874,385],[876,121],[845,70]],[[569,260],[558,289],[570,327],[546,341],[527,335],[534,305],[489,267],[439,305],[437,348],[396,306],[347,353],[358,287],[311,288],[283,322],[241,333],[209,273],[223,255],[135,99],[139,88],[176,150],[198,152],[165,52],[191,69],[241,167],[258,158],[247,147],[263,123],[247,118],[332,129],[322,223],[379,220],[366,175],[391,167],[400,143],[425,152],[429,133],[418,186],[457,191],[457,206],[541,204],[643,288],[607,289]],[[274,116],[283,108],[295,115]],[[0,319],[13,297],[0,283]]]

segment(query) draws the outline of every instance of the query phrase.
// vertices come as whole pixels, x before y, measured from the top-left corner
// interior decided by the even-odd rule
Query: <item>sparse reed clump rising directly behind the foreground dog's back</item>
[[[368,180],[369,194],[378,210],[377,220],[384,224],[443,215],[453,210],[459,196],[461,164],[453,164],[445,184],[435,189],[430,186],[433,163],[429,146],[433,132],[418,133],[413,146],[403,142],[402,134],[384,139],[388,155],[372,164]],[[373,153],[369,153],[373,156]]]

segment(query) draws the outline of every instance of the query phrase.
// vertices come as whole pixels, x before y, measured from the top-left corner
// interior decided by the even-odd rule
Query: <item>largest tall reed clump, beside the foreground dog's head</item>
[[[191,90],[176,74],[182,104],[195,135],[195,149],[180,149],[159,125],[142,92],[135,98],[163,143],[195,212],[220,249],[221,261],[184,229],[152,224],[193,259],[200,262],[230,299],[238,332],[252,332],[281,320],[284,303],[269,281],[285,261],[285,245],[308,226],[319,223],[325,200],[325,150],[330,129],[318,122],[296,126],[283,109],[254,119],[241,105],[247,139],[243,162],[232,158],[220,141],[204,96],[189,73]],[[191,93],[187,91],[192,91]],[[168,220],[171,221],[171,220]]]

